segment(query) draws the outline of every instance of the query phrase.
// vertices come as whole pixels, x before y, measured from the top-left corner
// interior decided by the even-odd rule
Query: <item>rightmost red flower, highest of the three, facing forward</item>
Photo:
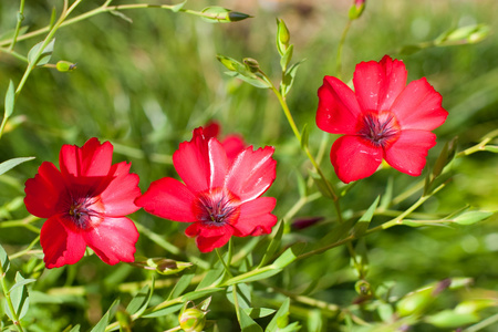
[[[323,79],[317,125],[344,134],[330,154],[342,181],[371,176],[382,159],[400,172],[421,175],[427,152],[436,144],[430,131],[440,126],[448,113],[425,77],[405,86],[406,75],[402,61],[385,55],[380,62],[356,65],[355,92],[336,77]]]

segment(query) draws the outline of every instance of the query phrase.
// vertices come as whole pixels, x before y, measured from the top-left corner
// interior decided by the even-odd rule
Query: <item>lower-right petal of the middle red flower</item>
[[[273,210],[277,199],[273,197],[259,197],[240,205],[240,216],[236,224],[234,235],[246,237],[249,235],[270,234],[271,228],[277,224]]]

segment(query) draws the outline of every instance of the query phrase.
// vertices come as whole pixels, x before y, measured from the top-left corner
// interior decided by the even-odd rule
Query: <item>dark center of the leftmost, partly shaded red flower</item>
[[[68,218],[77,229],[95,227],[102,220],[103,205],[97,197],[72,198]]]

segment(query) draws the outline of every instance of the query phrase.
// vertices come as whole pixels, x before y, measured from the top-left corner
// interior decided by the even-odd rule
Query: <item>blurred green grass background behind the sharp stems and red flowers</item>
[[[282,218],[299,199],[297,174],[307,176],[311,166],[271,92],[225,75],[216,55],[257,59],[277,84],[280,69],[274,46],[274,21],[276,18],[283,19],[294,43],[294,61],[307,59],[299,69],[288,102],[298,126],[302,128],[308,124],[311,129],[310,147],[315,153],[324,135],[314,124],[317,90],[324,75],[338,74],[336,46],[347,22],[351,2],[191,0],[186,8],[201,10],[218,4],[253,18],[211,24],[185,13],[141,9],[124,12],[133,23],[105,13],[62,28],[56,33],[51,63],[66,60],[77,63],[77,69],[70,73],[37,69],[24,86],[15,104],[14,117],[1,138],[0,155],[2,160],[24,156],[37,159],[0,176],[1,220],[27,216],[22,205],[23,183],[34,176],[43,160],[58,163],[62,144],[81,146],[94,136],[111,141],[115,145],[114,162],[132,162],[132,172],[141,176],[141,187],[145,190],[152,180],[176,177],[169,156],[180,142],[189,139],[195,127],[210,120],[222,125],[222,134],[240,133],[257,147],[276,146],[278,176],[267,195],[278,198],[274,212]],[[102,3],[83,1],[74,15]],[[29,25],[29,31],[48,25],[53,7],[60,12],[61,1],[27,1],[24,24]],[[0,34],[15,27],[18,9],[18,1],[0,2]],[[404,60],[409,81],[426,76],[442,93],[443,105],[449,112],[447,122],[435,131],[438,145],[429,152],[428,165],[432,165],[444,143],[455,136],[458,136],[458,151],[461,151],[498,128],[497,13],[495,0],[366,1],[365,12],[353,22],[346,38],[342,77],[349,81],[356,63],[378,61],[384,54]],[[489,37],[480,43],[427,48],[409,55],[398,53],[403,45],[430,41],[448,29],[476,23],[490,27]],[[27,54],[41,40],[42,37],[35,37],[20,41],[15,51]],[[1,52],[0,91],[7,91],[9,80],[18,83],[24,69],[25,63]],[[322,165],[328,177],[338,181],[328,157],[331,144],[332,139],[329,139]],[[487,152],[456,160],[452,165],[449,185],[417,211],[446,216],[467,205],[485,210],[498,209],[497,162],[497,156]],[[384,194],[387,179],[393,180],[395,195],[417,180],[393,169],[381,170],[361,180],[344,197],[345,212],[366,209],[375,197]],[[415,199],[407,199],[394,208],[403,210]],[[288,243],[295,240],[313,242],[329,231],[335,220],[333,207],[325,198],[304,206],[298,216],[322,216],[325,221],[286,235]],[[142,236],[137,255],[179,260],[191,255],[207,261],[216,260],[198,252],[194,240],[183,235],[185,225],[160,220],[144,211],[136,212],[133,218],[183,250],[181,255],[172,255]],[[386,219],[380,217],[374,222]],[[37,222],[41,227],[41,221]],[[0,232],[0,241],[9,253],[24,248],[35,237],[34,232],[23,228],[4,228]],[[236,239],[236,246],[245,242],[246,239]],[[262,242],[267,243],[264,239]],[[476,289],[498,291],[496,216],[468,227],[396,227],[367,237],[365,246],[370,258],[369,282],[373,287],[393,283],[393,295],[403,295],[448,277],[471,277]],[[23,257],[14,264],[29,277],[39,261],[27,260]],[[343,248],[334,249],[292,264],[269,282],[290,291],[317,282],[310,297],[350,305],[357,294],[354,291],[356,277],[349,260]],[[116,298],[116,284],[147,279],[148,273],[124,264],[107,267],[96,257],[85,258],[76,266],[44,271],[33,292],[50,292],[53,288],[60,288],[60,292],[52,292],[58,295],[53,295],[54,303],[51,304],[46,304],[48,300],[41,295],[38,303],[44,305],[35,305],[37,300],[33,300],[29,315],[33,331],[43,331],[50,326],[46,324],[62,330],[70,323],[89,329]],[[72,287],[79,286],[83,291],[72,294]],[[159,289],[156,297],[165,297],[168,291],[168,288]],[[255,293],[260,303],[274,304],[263,287]],[[128,294],[121,297],[124,302],[129,298]],[[224,298],[217,294],[215,300],[222,303]],[[438,305],[450,308],[455,301],[449,297]],[[295,315],[291,320],[302,320],[303,330],[313,331],[308,319],[312,311],[302,304],[295,305],[302,308],[293,309]],[[237,331],[237,325],[230,323],[234,311],[227,309],[224,312],[224,308],[227,307],[212,304],[209,319],[218,321],[220,331]],[[338,318],[325,312],[320,317],[325,322],[322,331],[338,329]],[[143,320],[137,323],[136,331],[173,328],[175,317],[163,317],[158,322],[153,324]],[[433,328],[422,324],[416,329],[432,331]],[[487,331],[496,329],[497,324]]]

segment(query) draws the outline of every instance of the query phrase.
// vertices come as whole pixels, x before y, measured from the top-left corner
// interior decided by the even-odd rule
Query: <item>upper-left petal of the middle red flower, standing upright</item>
[[[193,191],[205,191],[222,185],[228,168],[227,154],[216,138],[207,139],[201,128],[194,131],[190,142],[180,144],[173,164]]]

